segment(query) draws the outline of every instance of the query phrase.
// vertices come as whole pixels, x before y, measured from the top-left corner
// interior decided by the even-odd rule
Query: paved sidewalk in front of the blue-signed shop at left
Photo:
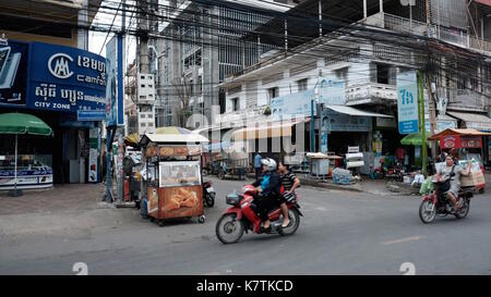
[[[103,202],[103,184],[56,185],[24,190],[21,197],[0,191],[0,238],[27,234],[70,234],[75,230],[112,228],[134,222],[134,209]]]

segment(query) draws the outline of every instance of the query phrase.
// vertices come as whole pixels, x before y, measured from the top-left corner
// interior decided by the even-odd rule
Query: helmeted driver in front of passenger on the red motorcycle
[[[261,160],[261,163],[263,164],[263,176],[252,185],[256,187],[258,193],[262,196],[262,199],[254,199],[256,211],[264,222],[261,231],[268,232],[271,230],[271,221],[267,218],[267,213],[278,203],[278,197],[282,195],[282,184],[276,173],[276,161],[265,158]]]

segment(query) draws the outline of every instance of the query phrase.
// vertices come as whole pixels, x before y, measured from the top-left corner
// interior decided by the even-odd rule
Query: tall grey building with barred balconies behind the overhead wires
[[[225,77],[260,61],[274,46],[242,39],[272,16],[263,11],[285,12],[301,1],[169,1],[157,7],[171,22],[155,21],[160,37],[151,51],[156,74],[156,124],[184,126],[192,113],[208,121],[212,106],[225,112],[225,92],[215,88]],[[246,108],[246,107],[243,107]],[[201,123],[204,124],[204,123]]]

